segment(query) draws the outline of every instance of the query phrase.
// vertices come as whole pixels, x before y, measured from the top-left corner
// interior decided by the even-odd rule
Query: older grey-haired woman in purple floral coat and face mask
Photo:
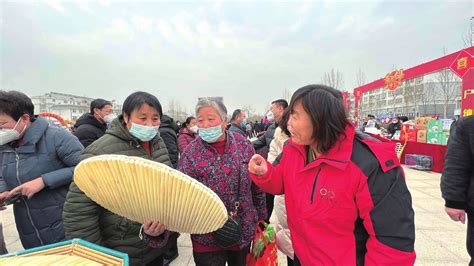
[[[191,235],[196,265],[245,265],[258,221],[266,217],[265,194],[252,183],[247,163],[255,153],[243,136],[225,130],[227,109],[219,100],[203,98],[196,106],[199,138],[181,154],[178,168],[211,188],[230,211],[240,190],[238,218],[242,241],[217,246],[212,233]],[[238,187],[240,178],[240,187]]]

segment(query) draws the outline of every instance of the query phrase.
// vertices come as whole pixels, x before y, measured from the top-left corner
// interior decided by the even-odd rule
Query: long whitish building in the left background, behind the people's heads
[[[75,121],[84,113],[90,112],[90,104],[94,98],[77,96],[72,94],[50,92],[41,96],[31,97],[35,105],[35,113],[54,113],[68,121]],[[113,104],[114,113],[120,114],[122,105],[115,100]]]

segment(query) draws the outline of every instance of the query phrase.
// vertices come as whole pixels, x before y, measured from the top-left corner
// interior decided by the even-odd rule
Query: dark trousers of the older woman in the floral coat
[[[196,266],[245,266],[250,246],[239,251],[194,252]]]

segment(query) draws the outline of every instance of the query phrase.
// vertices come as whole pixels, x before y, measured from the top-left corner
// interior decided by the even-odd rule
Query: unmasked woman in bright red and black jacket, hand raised
[[[413,265],[414,212],[394,145],[356,133],[327,86],[297,90],[290,114],[274,165],[254,155],[248,167],[264,191],[285,194],[296,264]]]

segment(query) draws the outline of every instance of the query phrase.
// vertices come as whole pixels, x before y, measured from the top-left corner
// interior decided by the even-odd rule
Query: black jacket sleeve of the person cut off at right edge
[[[453,135],[449,138],[441,176],[441,193],[448,208],[463,210],[467,208],[474,165],[471,151],[474,144],[470,139],[474,135],[474,126],[470,123],[474,123],[473,118],[459,120]]]

